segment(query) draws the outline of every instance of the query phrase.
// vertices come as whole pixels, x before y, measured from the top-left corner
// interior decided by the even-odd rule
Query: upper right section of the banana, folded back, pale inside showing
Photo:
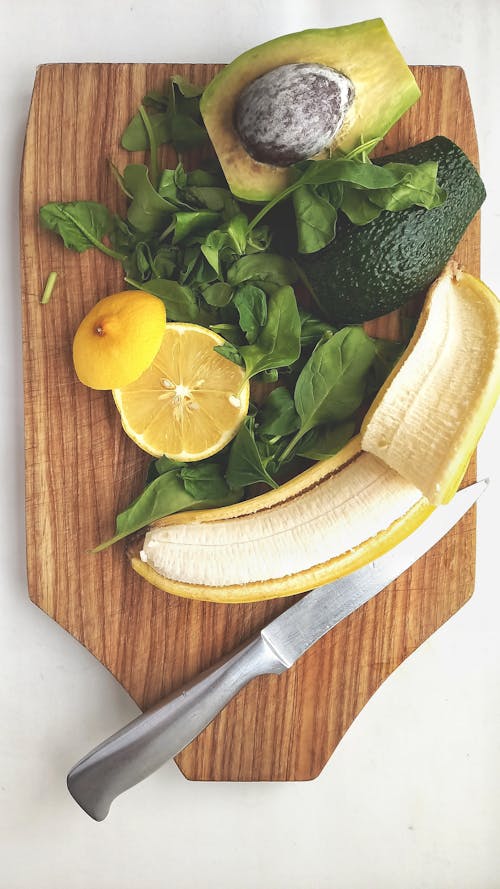
[[[434,504],[455,493],[500,393],[500,310],[449,263],[363,423],[363,450]]]

